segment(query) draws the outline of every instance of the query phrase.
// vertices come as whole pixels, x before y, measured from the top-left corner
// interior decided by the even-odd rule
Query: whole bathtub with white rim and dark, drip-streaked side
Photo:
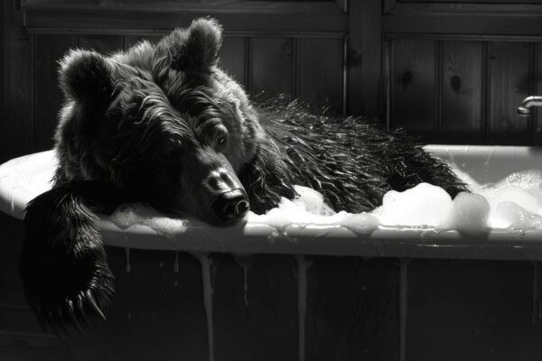
[[[533,147],[426,150],[481,183],[542,163],[542,149]],[[54,163],[44,152],[1,165],[0,209],[22,219],[26,203],[47,189]],[[428,227],[277,231],[194,221],[168,238],[150,227],[125,231],[107,217],[99,227],[117,295],[107,322],[91,332],[47,338],[70,359],[542,356],[538,230],[469,237]],[[37,326],[35,335],[42,335]]]

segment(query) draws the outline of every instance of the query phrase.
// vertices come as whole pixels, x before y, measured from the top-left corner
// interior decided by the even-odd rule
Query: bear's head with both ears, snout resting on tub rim
[[[264,132],[246,93],[218,68],[220,44],[220,25],[199,19],[111,57],[70,51],[56,135],[66,180],[106,182],[215,225],[243,218],[237,174]]]

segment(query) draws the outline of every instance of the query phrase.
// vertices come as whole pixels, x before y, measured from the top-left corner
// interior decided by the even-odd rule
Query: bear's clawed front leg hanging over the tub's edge
[[[44,329],[59,334],[65,323],[89,327],[89,310],[105,319],[114,277],[94,212],[111,212],[122,202],[118,194],[94,181],[72,181],[27,206],[20,272]]]

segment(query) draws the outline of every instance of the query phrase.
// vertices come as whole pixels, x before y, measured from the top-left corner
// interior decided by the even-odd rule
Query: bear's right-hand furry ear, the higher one
[[[214,19],[194,20],[186,30],[177,29],[170,35],[172,68],[207,70],[219,60],[222,27]]]

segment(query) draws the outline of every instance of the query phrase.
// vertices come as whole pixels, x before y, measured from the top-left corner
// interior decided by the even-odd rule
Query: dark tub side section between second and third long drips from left
[[[397,266],[385,258],[311,257],[306,360],[397,360]]]

